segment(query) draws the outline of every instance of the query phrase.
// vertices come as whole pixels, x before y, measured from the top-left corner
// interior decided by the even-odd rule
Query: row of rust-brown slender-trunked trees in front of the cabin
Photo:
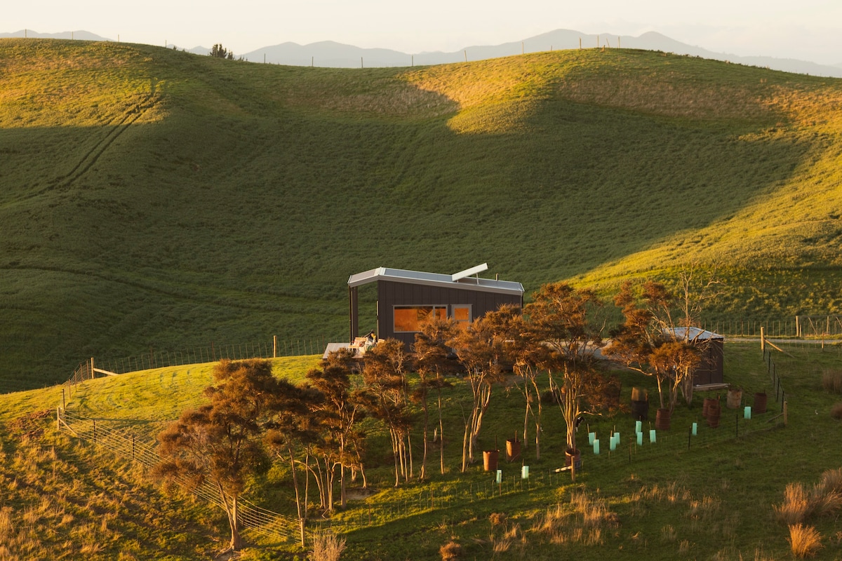
[[[689,341],[675,341],[663,331],[664,316],[658,312],[669,311],[670,301],[658,283],[646,283],[642,295],[634,293],[631,283],[624,285],[616,303],[626,320],[615,330],[610,354],[658,378],[659,389],[662,383],[669,386],[673,403],[675,388],[691,376],[699,359]],[[494,389],[507,376],[524,394],[523,438],[528,440],[533,425],[536,458],[541,457],[542,405],[548,401],[561,409],[572,462],[578,454],[580,416],[603,415],[620,406],[620,384],[606,375],[597,357],[605,346],[602,309],[591,290],[546,284],[524,310],[502,306],[464,329],[453,320],[429,320],[411,354],[401,341],[380,341],[365,354],[361,380],[347,350],[331,353],[298,385],[274,378],[268,361],[222,361],[214,370],[216,385],[206,389],[209,403],[185,410],[159,435],[157,473],[213,484],[228,516],[231,548],[237,549],[237,504],[248,477],[272,461],[288,463],[303,544],[312,485],[322,511],[333,511],[337,487],[339,503],[345,505],[348,477],[361,477],[367,485],[360,424],[366,415],[388,431],[396,486],[427,477],[431,442],[438,442],[445,473],[442,390],[456,379],[454,373],[471,389],[470,402],[462,404],[462,471],[477,458],[482,421]],[[417,374],[412,380],[411,373]],[[416,470],[413,438],[418,435],[413,431],[418,425],[423,448]],[[437,438],[429,438],[431,429]]]

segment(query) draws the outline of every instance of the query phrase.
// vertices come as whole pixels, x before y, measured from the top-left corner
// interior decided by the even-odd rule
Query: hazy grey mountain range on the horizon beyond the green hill
[[[15,33],[3,33],[0,37],[48,37],[53,39],[109,40],[88,31],[65,31],[63,33],[37,33],[21,29]],[[210,52],[208,47],[197,46],[184,49],[199,55]],[[584,34],[571,29],[556,29],[549,33],[536,35],[529,39],[504,43],[502,45],[474,45],[454,52],[422,52],[408,54],[391,49],[363,49],[354,45],[343,45],[334,41],[319,41],[309,45],[281,43],[253,50],[248,53],[235,53],[252,62],[266,62],[290,66],[323,66],[331,68],[359,68],[376,66],[422,66],[446,64],[450,62],[481,61],[500,56],[520,55],[521,53],[541,52],[545,50],[582,48],[616,48],[663,50],[677,55],[701,56],[716,61],[731,61],[749,66],[768,67],[773,70],[811,74],[813,76],[842,77],[842,62],[836,65],[821,65],[815,62],[797,59],[782,59],[772,56],[737,56],[718,53],[680,41],[654,31],[639,37],[615,34]]]

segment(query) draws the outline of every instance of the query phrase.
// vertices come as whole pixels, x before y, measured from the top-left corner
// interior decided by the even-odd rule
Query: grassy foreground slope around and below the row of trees
[[[457,384],[445,395],[444,475],[434,461],[428,481],[393,488],[387,436],[369,421],[371,489],[362,493],[358,479],[345,511],[312,522],[343,532],[344,558],[440,559],[440,547],[456,542],[461,558],[790,559],[789,533],[774,505],[783,503],[787,484],[805,484],[809,490],[825,470],[842,467],[835,445],[839,421],[829,415],[842,395],[822,385],[823,372],[839,371],[842,347],[793,342],[783,349],[789,354],[775,352],[772,358],[787,394],[788,426],[776,416],[781,405],[756,343],[727,343],[727,381],[746,395],[766,390],[768,413],[737,426],[742,411],[723,409],[721,426],[711,429],[701,419],[701,398],[712,395],[697,393],[692,406],[677,407],[670,431],[658,431],[658,442],[642,447],[631,445],[634,423],[628,413],[590,417],[585,427],[604,447],[594,456],[586,431],[579,431],[584,471],[575,484],[568,474],[553,473],[563,462],[562,421],[554,406],[545,410],[540,461],[527,444],[522,460],[502,463],[499,487],[493,475],[482,472],[482,463],[460,474],[460,404],[468,390]],[[299,381],[316,362],[317,357],[278,359],[275,373]],[[152,442],[165,421],[200,403],[210,366],[91,380],[78,387],[67,408],[103,426],[136,431],[138,442]],[[657,398],[653,380],[620,375],[624,401],[632,386],[647,388],[650,400]],[[156,558],[197,559],[221,549],[226,534],[221,511],[177,492],[164,493],[136,464],[56,432],[54,408],[61,403],[61,389],[8,394],[0,403],[0,553],[6,558],[74,558],[81,552],[90,559],[140,559],[154,551]],[[483,448],[504,447],[506,438],[522,430],[523,405],[514,386],[495,390]],[[698,435],[688,450],[692,422],[699,423]],[[613,429],[623,439],[608,454],[605,439]],[[418,468],[417,439],[416,446]],[[530,466],[525,484],[522,464]],[[282,514],[295,509],[282,465],[253,481],[247,497]],[[821,536],[818,559],[842,555],[838,516],[835,511],[807,518]],[[254,532],[247,537],[243,558],[302,555],[291,543]]]

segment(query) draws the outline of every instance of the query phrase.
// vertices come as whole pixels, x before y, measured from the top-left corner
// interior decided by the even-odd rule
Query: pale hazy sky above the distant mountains
[[[135,43],[235,53],[334,40],[418,53],[546,33],[658,31],[740,56],[842,63],[842,0],[28,0],[3,6],[0,32],[86,30]]]

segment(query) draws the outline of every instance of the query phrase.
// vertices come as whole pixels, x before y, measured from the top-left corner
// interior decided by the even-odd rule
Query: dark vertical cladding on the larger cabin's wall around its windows
[[[379,279],[377,281],[377,300],[380,310],[378,336],[381,339],[394,338],[403,341],[407,346],[415,342],[414,333],[395,333],[395,306],[446,305],[450,316],[451,306],[454,304],[469,304],[471,320],[476,320],[490,311],[497,310],[502,304],[522,305],[521,295],[498,294],[467,287],[470,287],[470,284],[466,284],[466,288],[448,288]]]

